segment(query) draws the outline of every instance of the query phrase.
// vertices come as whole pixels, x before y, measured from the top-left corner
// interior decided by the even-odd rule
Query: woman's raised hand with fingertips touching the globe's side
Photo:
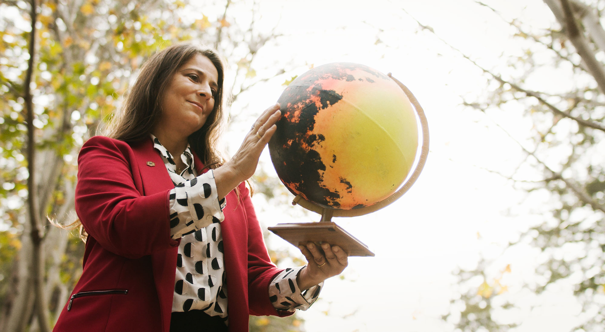
[[[218,199],[223,199],[229,191],[234,190],[254,174],[257,170],[258,158],[275,133],[277,129],[275,123],[280,120],[280,117],[280,104],[266,109],[254,122],[233,158],[214,170]]]

